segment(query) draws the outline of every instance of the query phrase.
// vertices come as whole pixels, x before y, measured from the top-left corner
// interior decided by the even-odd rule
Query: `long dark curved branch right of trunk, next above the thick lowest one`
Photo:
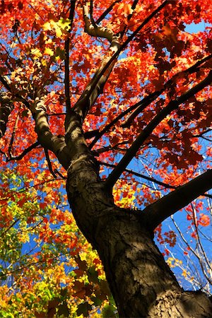
[[[208,76],[201,81],[199,84],[188,90],[186,93],[179,96],[179,98],[176,98],[175,100],[171,100],[163,110],[161,110],[154,118],[153,120],[146,126],[145,129],[141,132],[141,134],[136,138],[134,143],[132,143],[131,147],[128,151],[126,151],[124,157],[120,162],[118,163],[117,167],[111,172],[109,177],[107,177],[107,187],[113,187],[115,182],[117,182],[117,179],[119,179],[120,175],[122,175],[122,172],[126,169],[127,165],[129,165],[130,161],[134,156],[136,155],[137,151],[139,151],[141,145],[144,141],[150,136],[150,134],[153,132],[156,126],[160,124],[160,122],[167,117],[168,114],[170,114],[173,110],[176,110],[177,107],[182,104],[182,102],[185,102],[186,100],[189,100],[192,96],[194,96],[196,93],[198,93],[200,90],[205,88],[211,83],[212,79],[212,71],[209,72]]]

